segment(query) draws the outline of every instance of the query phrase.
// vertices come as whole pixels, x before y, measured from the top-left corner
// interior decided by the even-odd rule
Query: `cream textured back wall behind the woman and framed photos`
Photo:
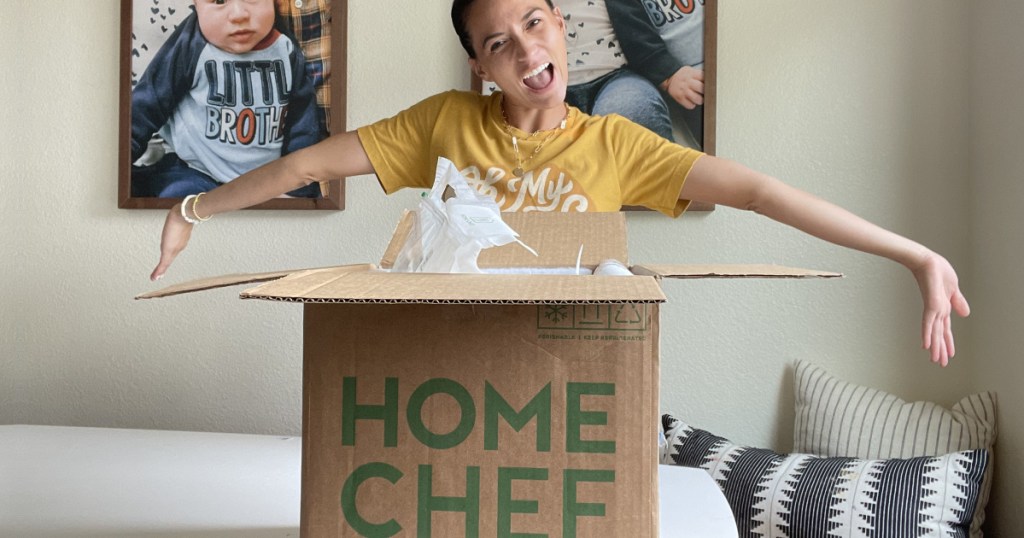
[[[1014,362],[1012,329],[1002,344],[971,332],[994,335],[1002,313],[1013,312],[1013,296],[1002,292],[1020,287],[1006,276],[987,289],[996,271],[982,260],[1011,255],[998,238],[1016,237],[1020,226],[1005,224],[1020,217],[1001,194],[1020,187],[1006,162],[979,178],[982,194],[968,203],[972,173],[981,171],[969,166],[970,113],[996,121],[1005,111],[968,107],[972,86],[963,76],[969,61],[985,59],[998,73],[1010,56],[994,44],[992,57],[969,55],[972,15],[952,0],[722,4],[719,155],[923,241],[961,268],[969,298],[1001,300],[1005,309],[976,314],[988,324],[957,323],[959,354],[942,370],[918,348],[920,298],[901,267],[724,208],[679,220],[633,214],[635,260],[846,274],[667,283],[664,410],[737,442],[784,450],[790,364],[798,358],[908,399],[950,403],[995,385],[1011,391],[999,372]],[[0,423],[297,433],[300,307],[240,301],[238,289],[132,300],[156,287],[146,276],[164,213],[116,208],[119,2],[59,5],[0,3],[9,81],[0,87]],[[350,2],[350,126],[468,86],[447,9],[444,1]],[[994,8],[984,12],[998,19]],[[974,32],[984,34],[987,18],[975,20]],[[1007,144],[1020,139],[981,130]],[[372,177],[360,177],[350,181],[342,212],[220,215],[196,230],[162,284],[375,260],[416,196],[385,198]],[[1005,208],[1008,220],[990,206]],[[996,240],[971,235],[972,207]],[[1019,397],[1004,397],[1004,416],[1022,409]],[[1020,428],[1005,422],[1004,440],[1019,446]]]

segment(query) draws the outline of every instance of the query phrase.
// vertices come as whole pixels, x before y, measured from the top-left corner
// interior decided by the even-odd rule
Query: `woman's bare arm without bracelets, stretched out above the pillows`
[[[913,274],[924,300],[922,345],[942,366],[954,355],[950,313],[970,314],[956,272],[939,254],[813,195],[742,165],[703,156],[681,199],[755,211],[837,245],[897,261]]]

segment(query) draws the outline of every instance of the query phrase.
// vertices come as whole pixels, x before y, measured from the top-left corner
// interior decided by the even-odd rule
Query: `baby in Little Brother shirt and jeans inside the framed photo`
[[[274,0],[196,0],[132,91],[132,196],[182,198],[324,137]],[[146,154],[154,134],[163,139]],[[144,156],[144,158],[143,158]],[[316,198],[315,183],[287,196]]]

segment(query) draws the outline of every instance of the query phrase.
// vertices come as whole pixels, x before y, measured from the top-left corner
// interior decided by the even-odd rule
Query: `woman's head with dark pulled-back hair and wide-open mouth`
[[[476,0],[466,16],[469,65],[512,105],[562,107],[567,84],[565,20],[545,0]]]

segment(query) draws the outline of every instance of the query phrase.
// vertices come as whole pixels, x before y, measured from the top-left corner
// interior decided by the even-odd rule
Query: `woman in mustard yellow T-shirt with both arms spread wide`
[[[969,314],[956,273],[940,255],[833,204],[739,164],[671,143],[618,117],[564,104],[565,24],[550,0],[456,0],[456,32],[489,96],[446,92],[393,118],[336,134],[240,176],[168,213],[161,278],[193,223],[321,179],[376,173],[385,192],[429,187],[451,159],[506,210],[612,211],[645,205],[678,215],[689,200],[765,214],[833,243],[906,266],[924,299],[922,340],[933,362],[954,354],[950,312]],[[412,179],[410,179],[412,178]]]

